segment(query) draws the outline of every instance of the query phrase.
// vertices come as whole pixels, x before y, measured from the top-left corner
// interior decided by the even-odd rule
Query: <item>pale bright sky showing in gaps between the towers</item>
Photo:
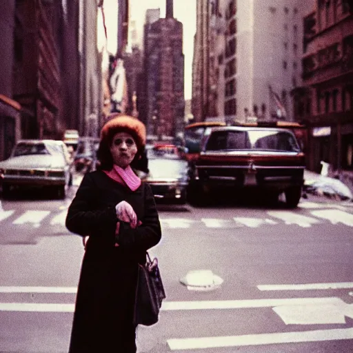
[[[161,17],[165,17],[165,0],[130,0],[130,17],[137,23],[140,40],[142,40],[143,36],[145,11],[149,8],[160,8]],[[117,51],[117,0],[104,0],[104,12],[108,32],[107,48],[109,52],[115,53]],[[192,56],[196,31],[196,0],[174,0],[174,17],[183,23],[184,96],[185,99],[191,99]]]

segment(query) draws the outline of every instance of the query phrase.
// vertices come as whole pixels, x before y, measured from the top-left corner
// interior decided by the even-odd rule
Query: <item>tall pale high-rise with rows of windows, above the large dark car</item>
[[[201,72],[193,80],[193,98],[199,104],[197,99],[202,97],[203,108],[202,114],[193,110],[195,116],[206,119],[216,113],[221,119],[238,121],[252,117],[294,119],[290,92],[301,85],[301,12],[310,1],[301,6],[299,3],[298,0],[198,2],[195,50],[199,46],[200,54],[195,52],[194,70]],[[212,33],[216,37],[212,38]],[[205,40],[209,44],[199,43]],[[205,50],[205,46],[210,48]],[[223,50],[218,49],[212,55],[212,48],[217,47]],[[205,65],[207,60],[209,63]],[[212,90],[214,72],[218,74],[218,86],[222,85],[222,90],[216,89],[218,112],[207,106],[214,105],[210,103],[212,92],[205,93]],[[197,87],[199,84],[201,88]]]

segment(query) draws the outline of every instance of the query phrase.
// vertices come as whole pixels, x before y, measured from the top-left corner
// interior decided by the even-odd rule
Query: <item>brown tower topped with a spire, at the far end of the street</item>
[[[173,17],[167,0],[165,18],[145,27],[147,132],[174,137],[183,130],[184,56],[183,24]]]

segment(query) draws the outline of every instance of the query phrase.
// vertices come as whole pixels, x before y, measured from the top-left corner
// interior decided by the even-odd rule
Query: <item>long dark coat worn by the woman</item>
[[[142,224],[121,223],[115,247],[115,205],[127,201]],[[132,323],[138,263],[159,243],[161,225],[150,185],[134,192],[104,172],[85,174],[66,217],[66,227],[89,235],[77,291],[70,353],[136,352]]]

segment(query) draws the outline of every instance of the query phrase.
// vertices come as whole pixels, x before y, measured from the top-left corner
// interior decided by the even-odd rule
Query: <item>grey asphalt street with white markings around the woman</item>
[[[64,220],[76,188],[1,201],[0,352],[68,350],[83,246]],[[138,328],[139,353],[353,352],[352,205],[159,206],[150,254],[167,299],[159,323]]]

